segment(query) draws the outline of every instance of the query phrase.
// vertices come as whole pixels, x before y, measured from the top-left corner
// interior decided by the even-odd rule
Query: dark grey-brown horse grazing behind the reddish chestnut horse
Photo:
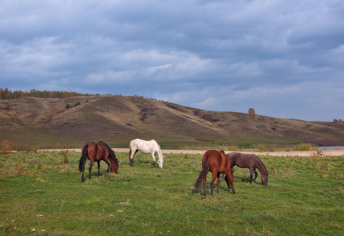
[[[250,184],[256,181],[258,173],[256,169],[259,170],[261,176],[261,182],[264,186],[268,185],[268,175],[269,172],[266,170],[265,165],[263,162],[254,154],[247,154],[247,153],[239,153],[237,151],[233,151],[227,154],[227,157],[232,163],[231,168],[234,166],[238,166],[240,168],[248,168],[250,169]],[[253,178],[253,173],[255,173],[255,178]],[[221,177],[221,181],[223,180],[223,175]]]

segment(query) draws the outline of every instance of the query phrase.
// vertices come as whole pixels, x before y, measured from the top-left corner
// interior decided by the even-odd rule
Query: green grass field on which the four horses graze
[[[343,156],[261,156],[268,186],[236,167],[237,194],[223,182],[210,196],[208,177],[204,200],[192,191],[201,155],[166,154],[155,169],[150,155],[131,167],[116,153],[118,175],[101,162],[84,183],[79,157],[0,155],[0,235],[344,235]]]

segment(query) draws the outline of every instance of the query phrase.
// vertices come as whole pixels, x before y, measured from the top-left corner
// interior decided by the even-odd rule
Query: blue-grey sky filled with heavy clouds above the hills
[[[0,87],[344,120],[344,0],[2,0]]]

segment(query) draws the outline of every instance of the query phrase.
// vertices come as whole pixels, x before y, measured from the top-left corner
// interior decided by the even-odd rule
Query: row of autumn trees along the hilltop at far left
[[[111,94],[107,94],[111,95]],[[89,94],[89,93],[77,93],[77,92],[67,92],[67,91],[40,91],[36,89],[31,89],[30,91],[9,90],[8,88],[0,88],[0,100],[11,100],[23,97],[32,98],[69,98],[69,97],[81,97],[81,96],[100,96],[100,94]]]

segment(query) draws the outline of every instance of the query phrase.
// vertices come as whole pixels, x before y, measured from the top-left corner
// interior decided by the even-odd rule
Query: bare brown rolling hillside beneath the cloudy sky
[[[81,104],[66,109],[66,104]],[[264,114],[257,114],[257,117]],[[155,139],[162,148],[184,144],[258,143],[281,146],[311,142],[344,146],[344,124],[306,122],[246,113],[216,112],[141,97],[110,95],[65,99],[0,100],[0,141],[23,145],[82,145],[104,141],[128,147],[131,139]]]

